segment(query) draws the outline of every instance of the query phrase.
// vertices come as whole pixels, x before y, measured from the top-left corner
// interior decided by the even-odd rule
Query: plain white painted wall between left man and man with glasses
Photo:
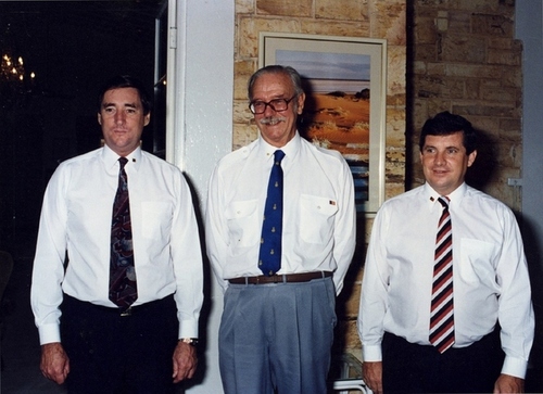
[[[207,179],[216,162],[232,147],[233,10],[233,0],[177,1],[174,162],[194,188],[202,214]],[[212,275],[211,269],[207,274]],[[201,384],[187,390],[191,394],[223,392],[217,346],[223,294],[215,278],[211,277],[209,283],[211,314],[204,332],[200,333],[206,338],[202,356],[205,376]]]

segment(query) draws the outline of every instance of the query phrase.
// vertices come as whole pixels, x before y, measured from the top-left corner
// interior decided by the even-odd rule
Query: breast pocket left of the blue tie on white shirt
[[[226,211],[230,245],[250,247],[260,242],[262,220],[258,215],[258,200],[235,201]]]

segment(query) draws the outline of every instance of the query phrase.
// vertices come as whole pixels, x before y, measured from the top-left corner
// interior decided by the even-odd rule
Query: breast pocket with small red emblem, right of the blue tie
[[[302,194],[300,196],[300,236],[303,241],[326,244],[333,234],[338,204],[333,199]]]

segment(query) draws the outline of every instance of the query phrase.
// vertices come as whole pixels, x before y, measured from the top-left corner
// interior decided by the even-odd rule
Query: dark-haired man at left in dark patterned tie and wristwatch
[[[71,393],[171,393],[197,367],[199,231],[179,168],[140,148],[150,116],[139,80],[110,80],[105,145],[62,163],[46,191],[31,306],[41,371]]]

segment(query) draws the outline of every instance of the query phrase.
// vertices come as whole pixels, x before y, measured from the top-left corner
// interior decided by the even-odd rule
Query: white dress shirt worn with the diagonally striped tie
[[[381,360],[383,331],[428,345],[435,232],[442,206],[424,185],[387,201],[371,231],[362,283],[363,357]],[[452,194],[454,347],[500,322],[503,373],[523,378],[534,318],[522,240],[513,212],[463,183]]]

